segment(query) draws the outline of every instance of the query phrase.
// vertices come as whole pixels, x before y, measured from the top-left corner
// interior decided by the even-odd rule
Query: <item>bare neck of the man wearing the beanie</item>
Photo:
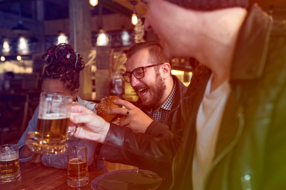
[[[218,15],[215,17],[206,18],[210,19],[208,22],[215,22],[216,24],[206,26],[204,30],[206,33],[201,45],[202,51],[198,60],[208,67],[214,75],[211,92],[230,78],[235,44],[246,13],[245,9],[231,8],[217,11]],[[221,19],[218,20],[217,18]],[[218,30],[217,28],[221,29]]]

